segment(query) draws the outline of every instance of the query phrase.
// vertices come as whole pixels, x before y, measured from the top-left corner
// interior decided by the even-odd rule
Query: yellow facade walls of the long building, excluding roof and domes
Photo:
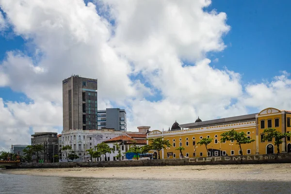
[[[286,115],[286,120],[285,120]],[[155,130],[155,132],[151,132],[148,134],[148,138],[155,138],[155,137],[162,137],[164,140],[168,140],[170,144],[172,145],[170,148],[165,149],[163,152],[163,158],[167,158],[167,152],[173,152],[176,156],[170,156],[169,158],[179,158],[179,150],[175,150],[178,148],[181,143],[181,146],[185,148],[185,150],[182,151],[184,156],[188,157],[194,157],[194,153],[196,154],[196,157],[207,157],[207,151],[205,145],[200,146],[197,145],[197,142],[200,140],[200,137],[210,137],[213,138],[212,142],[207,146],[208,149],[216,149],[218,152],[219,150],[225,151],[226,155],[239,155],[240,147],[236,144],[236,141],[231,143],[230,141],[226,141],[226,143],[223,143],[220,141],[221,134],[231,130],[235,129],[237,131],[244,131],[247,136],[250,136],[251,139],[255,139],[258,141],[252,142],[250,144],[242,145],[242,153],[243,155],[247,154],[266,154],[266,146],[269,144],[272,144],[274,146],[274,152],[277,153],[276,146],[274,144],[274,139],[272,142],[261,142],[261,134],[264,129],[268,128],[268,120],[270,119],[272,121],[272,128],[277,129],[280,132],[290,131],[291,132],[291,126],[287,126],[287,118],[289,117],[291,119],[291,113],[282,114],[282,112],[278,109],[274,108],[267,108],[262,110],[260,113],[256,115],[257,122],[255,120],[248,121],[248,122],[238,122],[233,124],[221,124],[217,126],[211,126],[211,127],[201,127],[201,128],[195,128],[195,129],[184,129],[184,130],[178,130],[178,131],[165,131],[162,133],[162,131]],[[279,119],[279,126],[275,127],[275,119]],[[261,128],[261,120],[265,121],[265,127]],[[285,130],[286,126],[286,130]],[[258,128],[258,131],[257,131]],[[217,135],[217,137],[216,137]],[[257,135],[257,136],[256,136]],[[194,139],[193,139],[194,138]],[[175,139],[175,141],[174,141]],[[215,139],[217,139],[217,144],[215,144]],[[195,141],[195,145],[193,145],[193,141]],[[188,142],[188,145],[187,145]],[[220,142],[220,143],[218,143]],[[291,141],[286,138],[286,144],[280,145],[280,151],[285,150],[285,146],[287,147],[288,144],[291,144]],[[231,150],[234,151],[233,154],[231,154]],[[247,150],[249,150],[249,153],[247,153]],[[287,151],[287,149],[286,149]],[[202,156],[200,156],[200,152],[202,152]],[[161,158],[162,158],[162,151]],[[215,156],[215,154],[213,153]],[[223,155],[223,153],[222,153]]]

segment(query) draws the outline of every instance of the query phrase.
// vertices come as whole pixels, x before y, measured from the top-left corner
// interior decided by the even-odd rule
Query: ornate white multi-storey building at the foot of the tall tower
[[[120,135],[126,135],[127,133],[145,134],[143,132],[126,132],[126,131],[116,131],[114,129],[101,129],[101,130],[82,130],[75,129],[69,131],[62,131],[62,147],[72,146],[72,150],[75,151],[79,159],[74,160],[74,162],[87,162],[90,160],[90,155],[87,154],[87,149],[94,148],[97,144],[100,144],[106,140],[113,139]],[[102,156],[104,158],[104,156]],[[113,159],[113,157],[112,157]],[[62,151],[62,160],[60,162],[67,162],[65,151]]]

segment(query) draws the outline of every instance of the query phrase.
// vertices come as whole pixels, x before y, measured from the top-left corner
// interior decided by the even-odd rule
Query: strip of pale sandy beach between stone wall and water
[[[76,167],[1,170],[1,173],[7,174],[56,177],[291,181],[290,172],[291,164],[191,165],[107,168]]]

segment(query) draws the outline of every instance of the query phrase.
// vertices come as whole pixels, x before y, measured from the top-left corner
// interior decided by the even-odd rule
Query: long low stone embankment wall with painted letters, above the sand
[[[124,166],[167,166],[207,164],[259,164],[291,163],[291,154],[215,156],[204,158],[132,160],[108,162],[62,162],[62,163],[20,163],[18,168],[69,168],[69,167],[124,167]]]

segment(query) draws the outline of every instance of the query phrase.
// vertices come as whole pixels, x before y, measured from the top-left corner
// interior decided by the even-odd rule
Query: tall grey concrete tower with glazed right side
[[[63,81],[63,130],[97,129],[97,79],[73,75]]]

